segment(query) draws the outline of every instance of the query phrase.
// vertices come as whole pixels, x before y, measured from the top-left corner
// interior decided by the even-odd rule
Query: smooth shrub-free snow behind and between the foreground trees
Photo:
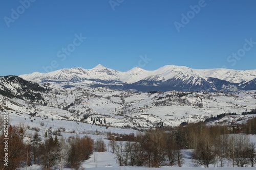
[[[177,109],[178,110],[178,109]],[[10,114],[10,113],[9,113]],[[14,114],[14,113],[13,113]],[[10,116],[11,117],[11,124],[19,124],[20,122],[20,117],[16,114],[14,114],[14,116]],[[36,117],[37,118],[37,117]],[[23,120],[23,118],[21,118]],[[27,120],[28,119],[28,120]],[[27,122],[24,122],[25,125],[29,125],[31,124],[31,121],[29,118],[27,118]],[[47,119],[45,120],[45,124],[48,122],[47,128],[48,127],[65,127],[67,129],[67,131],[73,131],[75,130],[76,133],[68,133],[68,132],[62,132],[61,135],[63,138],[68,138],[69,136],[75,136],[77,135],[77,133],[80,131],[84,131],[87,130],[87,132],[89,133],[90,131],[92,133],[89,134],[79,134],[80,136],[83,135],[88,135],[90,136],[92,139],[96,140],[97,138],[102,138],[103,141],[106,144],[106,149],[107,152],[94,152],[94,154],[91,155],[91,157],[84,161],[82,163],[82,167],[86,168],[86,169],[92,169],[92,170],[101,170],[101,169],[109,169],[109,170],[142,170],[142,169],[148,169],[148,170],[165,170],[165,169],[180,169],[180,170],[194,170],[194,169],[205,169],[204,167],[195,167],[195,165],[193,164],[193,162],[190,159],[190,154],[192,152],[192,150],[182,150],[182,153],[184,155],[184,164],[182,165],[182,167],[169,167],[169,166],[163,166],[160,168],[146,168],[146,167],[131,167],[131,166],[123,166],[120,167],[118,165],[118,163],[115,160],[114,154],[112,154],[111,149],[108,148],[108,142],[109,140],[105,139],[106,136],[104,135],[97,135],[96,134],[96,130],[98,132],[114,132],[114,133],[120,133],[120,134],[129,134],[129,133],[137,133],[137,131],[135,130],[131,130],[131,129],[121,129],[121,128],[108,128],[106,129],[105,127],[100,127],[100,126],[95,126],[95,125],[90,125],[90,124],[83,124],[83,123],[76,123],[76,122],[72,122],[72,121],[68,121],[68,120],[58,120],[58,119]],[[35,121],[34,121],[35,122]],[[33,122],[33,123],[34,123]],[[36,126],[38,128],[42,128],[39,125],[39,122],[36,124],[32,124],[33,126]],[[31,125],[31,126],[32,126]],[[41,131],[44,132],[44,131]],[[28,133],[34,133],[33,131],[28,131]],[[40,133],[40,135],[43,135],[44,133]],[[251,139],[251,142],[256,142],[256,135],[248,135]],[[60,138],[60,136],[59,136]],[[207,169],[221,169],[221,170],[236,170],[236,169],[255,169],[255,167],[231,167],[232,166],[232,162],[231,160],[225,160],[225,167],[218,167],[218,164],[211,164],[209,168]],[[97,167],[96,167],[97,166]],[[21,170],[25,170],[26,168],[20,168]],[[27,169],[29,170],[39,170],[41,169],[40,166],[38,165],[32,165],[31,167],[28,167]],[[63,168],[65,170],[70,170],[68,168]]]

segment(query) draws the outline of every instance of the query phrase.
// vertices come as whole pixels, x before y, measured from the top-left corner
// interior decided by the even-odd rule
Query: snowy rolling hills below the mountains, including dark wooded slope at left
[[[11,78],[12,81],[7,81]],[[38,119],[36,117],[40,117],[39,119],[44,117],[107,127],[148,128],[159,126],[160,123],[164,126],[178,126],[184,122],[198,122],[218,114],[236,112],[238,116],[226,117],[228,122],[231,122],[241,117],[246,119],[241,113],[255,109],[256,103],[255,90],[233,93],[182,91],[147,93],[105,87],[61,88],[54,83],[39,86],[18,77],[9,77],[9,79],[3,77],[0,79],[1,87],[8,87],[2,88],[0,106],[12,110],[15,116],[20,117],[20,121],[29,117],[31,119],[33,116],[35,120]],[[141,81],[141,83],[145,82]],[[28,87],[29,84],[33,84],[36,88],[27,90],[25,84]],[[39,87],[45,90],[38,90]],[[6,92],[13,95],[8,96]],[[30,98],[19,98],[18,94]],[[32,101],[31,96],[36,100]],[[38,100],[37,96],[39,96]]]

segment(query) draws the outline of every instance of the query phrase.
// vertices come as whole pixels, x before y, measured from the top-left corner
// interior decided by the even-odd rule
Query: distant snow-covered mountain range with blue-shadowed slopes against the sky
[[[34,82],[58,83],[63,87],[86,85],[138,91],[237,91],[256,89],[256,70],[192,69],[166,65],[156,70],[140,67],[128,71],[106,68],[66,68],[47,73],[33,72],[19,77]]]

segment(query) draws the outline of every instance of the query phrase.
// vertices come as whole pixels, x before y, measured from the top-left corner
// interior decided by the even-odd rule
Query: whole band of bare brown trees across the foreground
[[[254,125],[253,121],[255,119],[247,122],[251,128]],[[51,135],[41,138],[38,133],[29,136],[23,125],[9,126],[6,137],[3,122],[0,117],[0,148],[2,148],[0,155],[5,155],[4,141],[8,138],[10,169],[25,166],[27,158],[28,165],[40,164],[44,169],[51,169],[54,166],[78,169],[81,162],[87,160],[93,150],[106,151],[102,139],[94,141],[87,136],[71,136],[64,139]],[[126,141],[122,141],[120,137],[110,136],[109,146],[120,166],[182,166],[182,149],[193,150],[191,158],[195,165],[224,166],[224,160],[229,160],[232,166],[254,166],[256,144],[250,142],[248,135],[234,132],[239,131],[225,126],[207,126],[200,122],[184,127],[150,129],[136,136],[127,135]],[[0,161],[4,162],[4,157],[0,157]],[[0,168],[4,168],[4,165]]]

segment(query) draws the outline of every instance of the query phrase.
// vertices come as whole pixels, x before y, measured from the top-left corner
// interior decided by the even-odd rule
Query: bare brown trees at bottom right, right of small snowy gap
[[[231,160],[232,166],[254,166],[256,163],[256,145],[248,135],[241,134],[248,125],[253,127],[250,119],[241,126],[207,126],[205,123],[188,124],[177,128],[182,149],[194,149],[191,155],[196,165],[217,163],[224,166],[224,159]],[[256,128],[256,127],[254,127]]]

